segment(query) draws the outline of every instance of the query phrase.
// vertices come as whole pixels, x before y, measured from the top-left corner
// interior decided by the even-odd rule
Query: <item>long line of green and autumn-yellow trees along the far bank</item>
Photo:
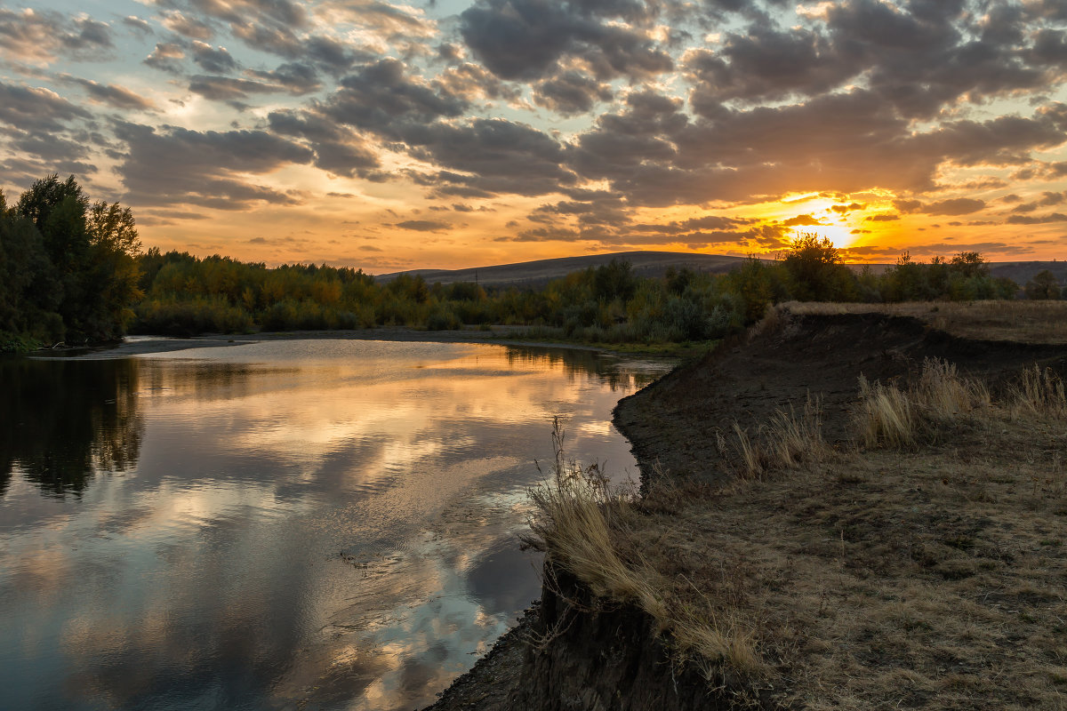
[[[513,324],[531,335],[605,343],[721,338],[787,300],[830,302],[1016,298],[975,252],[929,263],[903,255],[881,273],[843,263],[833,244],[799,235],[777,260],[727,274],[687,269],[641,277],[626,261],[540,288],[380,282],[361,270],[140,251],[129,208],[91,203],[74,177],[35,182],[10,208],[0,193],[0,349],[84,343],[127,332],[190,336],[255,329],[399,325],[427,329]],[[1063,296],[1038,274],[1031,298]]]

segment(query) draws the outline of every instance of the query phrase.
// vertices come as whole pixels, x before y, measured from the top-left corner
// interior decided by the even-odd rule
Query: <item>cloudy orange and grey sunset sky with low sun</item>
[[[1064,0],[0,0],[0,189],[384,273],[1067,247]]]

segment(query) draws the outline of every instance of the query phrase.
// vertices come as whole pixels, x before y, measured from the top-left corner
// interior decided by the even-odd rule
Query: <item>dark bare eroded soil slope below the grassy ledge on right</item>
[[[827,440],[845,442],[859,376],[907,381],[924,358],[947,359],[993,387],[1024,365],[1063,370],[1067,363],[1062,345],[958,338],[911,317],[778,318],[619,403],[615,424],[642,471],[658,464],[674,475],[720,473],[708,468],[719,458],[717,432],[729,434],[734,421],[754,431],[777,410],[801,409],[809,397],[822,400]]]

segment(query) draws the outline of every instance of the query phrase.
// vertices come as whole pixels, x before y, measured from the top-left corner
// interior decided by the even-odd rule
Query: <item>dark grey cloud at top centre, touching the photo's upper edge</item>
[[[460,32],[504,79],[537,79],[557,60],[580,58],[601,79],[648,77],[673,67],[670,55],[637,29],[656,15],[638,0],[480,0],[460,15]],[[605,20],[625,20],[628,25]]]

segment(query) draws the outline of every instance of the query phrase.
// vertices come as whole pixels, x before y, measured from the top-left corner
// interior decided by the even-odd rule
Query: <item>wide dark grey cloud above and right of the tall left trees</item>
[[[309,163],[310,149],[264,131],[191,131],[118,124],[126,144],[117,173],[125,200],[136,207],[197,205],[242,210],[256,204],[293,205],[291,194],[246,181],[239,174],[265,174]],[[166,169],[160,169],[165,166]]]

